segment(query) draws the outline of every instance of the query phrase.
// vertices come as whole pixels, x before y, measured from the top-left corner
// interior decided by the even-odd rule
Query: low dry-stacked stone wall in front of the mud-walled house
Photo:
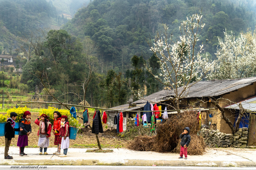
[[[201,134],[205,144],[209,147],[245,148],[248,139],[248,128],[239,128],[234,135],[222,133],[219,130],[202,128]]]

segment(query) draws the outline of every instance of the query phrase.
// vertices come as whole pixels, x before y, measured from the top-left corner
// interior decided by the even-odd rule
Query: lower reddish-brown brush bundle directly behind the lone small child
[[[174,150],[176,153],[180,153],[180,143],[178,142],[177,147]],[[205,151],[204,138],[197,134],[191,135],[191,141],[188,146],[188,155],[202,155]]]

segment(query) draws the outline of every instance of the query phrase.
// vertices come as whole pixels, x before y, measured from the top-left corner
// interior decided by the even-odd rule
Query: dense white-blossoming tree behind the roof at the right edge
[[[224,39],[219,39],[208,79],[236,79],[255,76],[256,71],[256,34],[248,30],[235,37],[224,32]]]

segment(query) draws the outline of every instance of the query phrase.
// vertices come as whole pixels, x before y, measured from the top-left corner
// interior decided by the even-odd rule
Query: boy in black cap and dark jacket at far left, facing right
[[[14,138],[14,131],[21,131],[22,128],[14,128],[15,127],[15,120],[17,118],[17,113],[12,112],[10,113],[10,118],[7,119],[5,123],[5,149],[4,149],[4,159],[13,159],[12,156],[8,155],[9,147],[12,141],[12,138]]]

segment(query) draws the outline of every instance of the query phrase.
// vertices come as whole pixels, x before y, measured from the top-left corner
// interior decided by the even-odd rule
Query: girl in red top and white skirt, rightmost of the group
[[[62,137],[61,140],[61,149],[64,149],[64,154],[60,155],[60,157],[67,157],[67,152],[69,148],[69,122],[67,116],[61,116],[61,129],[60,129],[60,136]]]

